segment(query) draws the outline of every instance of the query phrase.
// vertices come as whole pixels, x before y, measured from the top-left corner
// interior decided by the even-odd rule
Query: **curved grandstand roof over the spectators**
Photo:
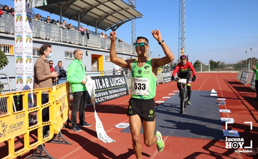
[[[81,23],[107,31],[116,30],[122,24],[132,19],[142,18],[143,15],[132,6],[122,0],[73,0],[52,3],[36,7],[50,12],[60,14],[62,17],[79,21]],[[80,18],[78,16],[80,15]]]

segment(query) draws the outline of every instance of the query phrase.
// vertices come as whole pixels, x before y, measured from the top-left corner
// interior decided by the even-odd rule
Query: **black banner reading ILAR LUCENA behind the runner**
[[[129,95],[124,75],[91,77],[95,84],[96,104]]]

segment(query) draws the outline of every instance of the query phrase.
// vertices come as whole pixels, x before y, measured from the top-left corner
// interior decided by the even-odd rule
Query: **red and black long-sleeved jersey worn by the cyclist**
[[[191,71],[192,74],[195,75],[195,69],[192,66],[191,62],[186,61],[185,65],[180,62],[179,64],[177,64],[172,76],[175,76],[175,74],[178,72],[178,77],[191,79]]]

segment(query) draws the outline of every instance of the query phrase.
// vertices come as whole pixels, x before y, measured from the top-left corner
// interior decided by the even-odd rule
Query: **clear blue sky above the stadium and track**
[[[5,4],[14,7],[12,0],[6,0]],[[196,60],[202,60],[203,63],[208,63],[209,59],[212,59],[236,63],[246,59],[245,51],[248,51],[247,56],[250,58],[250,48],[252,57],[258,58],[257,0],[186,0],[185,6],[186,54],[189,55],[190,61],[194,63]],[[177,59],[179,1],[137,0],[136,10],[143,14],[143,18],[136,19],[136,36],[148,38],[152,58],[165,56],[150,32],[159,29]],[[55,14],[36,8],[33,11],[45,17],[50,15],[50,19],[60,19]],[[78,25],[76,21],[63,19],[74,26]],[[95,31],[93,27],[89,29]],[[109,32],[111,30],[106,33]],[[131,22],[120,26],[117,36],[130,43]]]

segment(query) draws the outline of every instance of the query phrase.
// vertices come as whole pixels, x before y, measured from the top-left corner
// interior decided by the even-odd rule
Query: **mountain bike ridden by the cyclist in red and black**
[[[186,103],[188,99],[187,86],[186,86],[187,79],[176,78],[175,81],[182,83],[181,92],[179,93],[180,93],[180,112],[183,114],[183,109],[186,108]]]

